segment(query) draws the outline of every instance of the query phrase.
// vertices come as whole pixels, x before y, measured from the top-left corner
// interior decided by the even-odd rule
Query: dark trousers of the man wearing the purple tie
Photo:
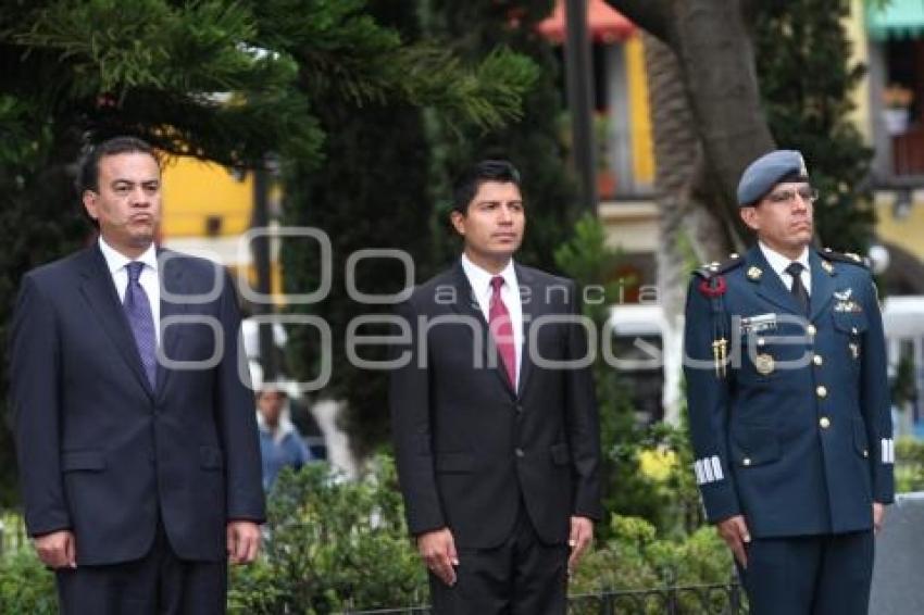
[[[227,563],[180,560],[160,523],[140,560],[78,565],[58,570],[55,580],[61,615],[224,615],[226,610]]]

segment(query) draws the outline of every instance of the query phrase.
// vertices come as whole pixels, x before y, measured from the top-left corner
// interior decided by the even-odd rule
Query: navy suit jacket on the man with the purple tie
[[[208,261],[166,255],[161,323],[171,316],[200,323],[164,329],[164,355],[216,361],[210,368],[159,364],[157,390],[97,244],[22,281],[11,389],[26,525],[33,536],[73,530],[78,564],[142,556],[159,515],[178,556],[218,561],[228,519],[264,518],[253,396],[238,375],[240,318],[230,279]],[[164,288],[204,301],[173,303]]]

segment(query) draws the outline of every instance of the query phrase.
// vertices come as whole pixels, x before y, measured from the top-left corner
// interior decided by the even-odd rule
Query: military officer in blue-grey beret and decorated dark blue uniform
[[[885,340],[862,259],[815,250],[817,193],[777,150],[738,185],[758,243],[698,269],[684,371],[694,470],[754,615],[869,608],[892,501]]]

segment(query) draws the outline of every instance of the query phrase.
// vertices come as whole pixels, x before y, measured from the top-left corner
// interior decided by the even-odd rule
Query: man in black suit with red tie
[[[409,344],[391,428],[408,525],[436,613],[561,614],[601,516],[577,293],[513,262],[525,225],[513,165],[476,164],[453,200],[462,258],[397,310]]]

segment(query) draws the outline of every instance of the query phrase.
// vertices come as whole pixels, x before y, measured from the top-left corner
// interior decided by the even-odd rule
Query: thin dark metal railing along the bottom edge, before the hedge
[[[570,615],[745,615],[736,578],[726,583],[617,590],[569,597]],[[347,611],[344,615],[430,615],[428,606]]]

